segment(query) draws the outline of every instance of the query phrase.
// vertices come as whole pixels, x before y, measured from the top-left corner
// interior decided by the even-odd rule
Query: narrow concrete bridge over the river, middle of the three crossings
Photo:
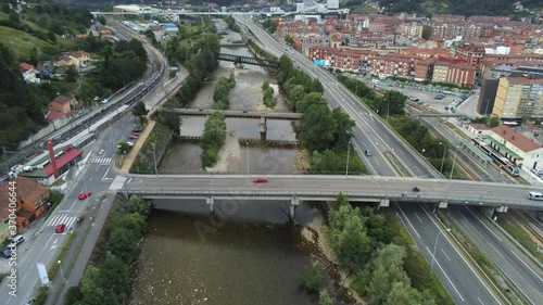
[[[290,112],[253,112],[253,111],[237,111],[237,110],[197,110],[197,109],[161,109],[160,112],[172,112],[178,115],[187,116],[209,116],[216,111],[224,114],[226,117],[240,117],[240,118],[260,118],[261,122],[258,126],[261,128],[261,135],[266,135],[267,131],[267,119],[301,119],[301,113],[290,113]]]

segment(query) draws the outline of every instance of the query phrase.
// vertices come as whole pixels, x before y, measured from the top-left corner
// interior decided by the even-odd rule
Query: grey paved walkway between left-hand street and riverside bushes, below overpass
[[[77,236],[63,258],[56,276],[50,279],[51,285],[46,305],[63,304],[67,290],[79,283],[113,205],[115,193],[105,193],[105,196],[103,201],[93,201],[89,205],[87,215],[77,228]]]

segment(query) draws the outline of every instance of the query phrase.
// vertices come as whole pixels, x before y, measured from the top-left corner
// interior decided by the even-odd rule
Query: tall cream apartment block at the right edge
[[[543,118],[543,78],[500,78],[492,116],[505,120]]]

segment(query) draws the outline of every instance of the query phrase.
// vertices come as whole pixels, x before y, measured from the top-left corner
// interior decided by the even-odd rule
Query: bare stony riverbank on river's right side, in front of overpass
[[[327,226],[325,224],[325,218],[321,214],[317,214],[313,218],[313,220],[302,229],[302,237],[306,242],[312,243],[320,252],[320,255],[315,254],[313,255],[313,258],[319,260],[319,263],[323,265],[321,267],[329,274],[331,274],[333,287],[336,290],[333,291],[332,295],[343,295],[355,302],[354,304],[365,305],[366,303],[364,302],[364,300],[362,300],[362,297],[359,297],[356,292],[350,289],[351,278],[349,277],[349,275],[339,269],[339,264],[336,259],[336,255],[333,254],[333,251],[330,247],[328,240],[326,239],[326,230]],[[323,262],[323,258],[327,262]]]

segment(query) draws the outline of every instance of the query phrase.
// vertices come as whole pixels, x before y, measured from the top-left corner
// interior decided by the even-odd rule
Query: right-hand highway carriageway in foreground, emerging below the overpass
[[[541,304],[543,300],[543,271],[518,250],[498,230],[492,230],[491,221],[477,208],[452,206],[449,212],[460,228],[478,245],[492,263],[509,278],[529,304]],[[482,228],[481,228],[482,227]]]

